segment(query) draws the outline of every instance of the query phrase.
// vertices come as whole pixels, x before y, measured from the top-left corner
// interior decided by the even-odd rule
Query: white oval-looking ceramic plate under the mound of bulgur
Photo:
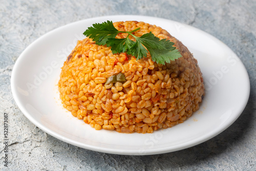
[[[95,131],[61,105],[57,82],[63,61],[94,23],[137,20],[167,30],[198,59],[206,95],[198,112],[184,123],[153,134]],[[202,143],[227,129],[249,97],[249,78],[240,59],[217,38],[172,20],[133,15],[104,16],[57,28],[34,41],[17,59],[11,76],[13,97],[42,131],[93,151],[121,155],[174,152]]]

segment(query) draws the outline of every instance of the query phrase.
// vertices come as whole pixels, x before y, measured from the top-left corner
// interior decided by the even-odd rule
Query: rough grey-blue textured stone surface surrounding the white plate
[[[255,0],[0,3],[0,170],[8,170],[3,164],[4,112],[9,114],[9,170],[256,170]],[[117,14],[176,20],[206,31],[229,46],[243,61],[250,77],[250,98],[239,119],[202,144],[151,156],[89,151],[62,142],[32,124],[17,108],[11,94],[10,76],[19,54],[55,28],[81,19]]]

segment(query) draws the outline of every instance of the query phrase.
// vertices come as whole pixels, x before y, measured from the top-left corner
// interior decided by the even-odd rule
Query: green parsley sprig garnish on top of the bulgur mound
[[[93,24],[83,34],[89,36],[97,45],[106,45],[111,47],[113,54],[126,52],[129,55],[135,56],[137,59],[146,57],[146,53],[151,54],[152,60],[164,65],[170,60],[175,60],[181,57],[178,49],[173,47],[174,42],[166,39],[159,39],[152,32],[143,34],[137,37],[133,32],[138,31],[137,28],[132,31],[118,31],[112,21],[103,22],[101,24]],[[118,33],[128,33],[126,38],[115,38]],[[133,36],[136,41],[129,38]]]

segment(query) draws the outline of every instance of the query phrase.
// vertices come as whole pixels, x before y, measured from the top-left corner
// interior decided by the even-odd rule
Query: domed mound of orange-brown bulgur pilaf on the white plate
[[[166,30],[143,22],[116,22],[119,31],[141,29],[175,43],[182,57],[159,65],[146,58],[136,60],[126,53],[113,54],[111,47],[98,46],[90,38],[78,40],[64,62],[58,82],[60,99],[72,115],[95,130],[120,133],[153,133],[182,123],[199,109],[204,95],[203,78],[197,60]],[[116,38],[124,38],[119,33]],[[130,37],[132,40],[133,37]],[[106,79],[123,73],[126,82]]]

